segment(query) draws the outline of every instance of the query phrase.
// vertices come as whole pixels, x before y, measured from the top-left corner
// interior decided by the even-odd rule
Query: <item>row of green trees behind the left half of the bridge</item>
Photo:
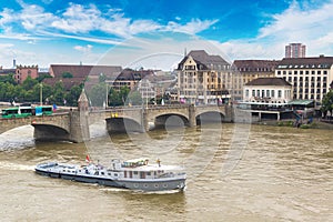
[[[44,78],[48,78],[47,75]],[[41,79],[40,79],[41,80]],[[0,101],[16,102],[40,102],[40,92],[42,87],[42,100],[44,103],[63,105],[78,105],[78,99],[81,94],[83,84],[74,85],[68,92],[62,82],[57,82],[53,87],[40,83],[38,79],[27,78],[22,84],[16,84],[9,79],[0,79]],[[131,99],[128,99],[130,90],[127,87],[120,91],[109,89],[109,105],[141,104],[140,93],[134,92]],[[91,105],[102,107],[107,99],[107,84],[104,82],[95,84],[87,92]]]

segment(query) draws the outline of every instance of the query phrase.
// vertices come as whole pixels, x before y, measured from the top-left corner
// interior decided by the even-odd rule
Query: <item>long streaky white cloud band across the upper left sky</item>
[[[62,13],[59,13],[59,11],[57,13],[47,12],[40,6],[27,4],[22,1],[20,1],[20,4],[22,9],[19,11],[6,8],[0,12],[0,27],[3,30],[11,27],[12,32],[28,32],[37,36],[47,32],[69,36],[103,32],[111,38],[128,39],[135,34],[157,30],[195,34],[209,29],[218,21],[192,19],[190,22],[182,24],[176,19],[176,22],[170,21],[163,24],[149,19],[133,20],[127,18],[120,9],[103,9],[105,11],[103,12],[94,4],[70,3]]]

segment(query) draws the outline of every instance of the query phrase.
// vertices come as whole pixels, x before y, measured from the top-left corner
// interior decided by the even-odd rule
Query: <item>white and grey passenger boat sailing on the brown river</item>
[[[48,162],[38,164],[34,170],[51,178],[142,191],[183,190],[186,180],[182,168],[164,165],[159,160],[157,164],[149,164],[148,159],[112,160],[110,167]]]

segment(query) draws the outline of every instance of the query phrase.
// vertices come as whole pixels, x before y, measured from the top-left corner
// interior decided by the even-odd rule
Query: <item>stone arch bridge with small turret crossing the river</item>
[[[104,110],[59,112],[52,115],[0,119],[0,133],[21,127],[32,125],[36,140],[83,142],[90,139],[89,125],[105,121],[109,132],[145,132],[153,127],[194,127],[204,121],[233,121],[229,105],[150,105],[120,107]]]

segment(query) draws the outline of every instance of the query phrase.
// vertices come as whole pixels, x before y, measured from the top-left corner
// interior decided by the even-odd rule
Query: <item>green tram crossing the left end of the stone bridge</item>
[[[53,109],[50,105],[40,105],[32,108],[31,105],[20,105],[2,110],[1,117],[4,119],[10,118],[27,118],[30,115],[50,115]]]

